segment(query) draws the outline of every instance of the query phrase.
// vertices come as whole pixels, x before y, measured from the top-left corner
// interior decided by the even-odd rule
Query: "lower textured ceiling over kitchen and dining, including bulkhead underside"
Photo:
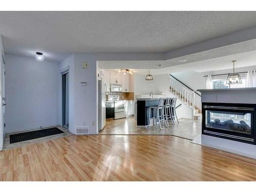
[[[242,59],[243,62],[240,62],[238,67],[255,66],[255,50],[256,39],[252,39],[168,60],[119,60],[98,61],[98,63],[101,69],[157,69],[156,71],[152,70],[155,74],[191,70],[206,72],[230,69],[229,62],[231,60]],[[183,59],[186,59],[186,61],[181,62]]]

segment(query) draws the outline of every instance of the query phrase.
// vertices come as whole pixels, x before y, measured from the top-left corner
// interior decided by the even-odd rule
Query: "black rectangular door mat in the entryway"
[[[37,139],[41,137],[47,137],[50,135],[57,135],[64,133],[61,130],[59,130],[57,127],[44,129],[44,130],[37,130],[32,132],[25,132],[25,133],[18,133],[10,135],[10,143],[17,143],[21,141],[27,141],[31,139]]]

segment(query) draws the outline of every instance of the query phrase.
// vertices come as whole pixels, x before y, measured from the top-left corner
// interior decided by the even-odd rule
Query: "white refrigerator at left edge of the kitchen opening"
[[[106,124],[106,83],[102,80],[98,80],[99,89],[99,127],[98,131],[103,130]]]

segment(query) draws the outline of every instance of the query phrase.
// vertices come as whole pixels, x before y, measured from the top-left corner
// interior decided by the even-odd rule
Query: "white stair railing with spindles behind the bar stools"
[[[195,91],[189,90],[184,84],[170,76],[170,92],[179,98],[186,106],[188,106],[195,114]]]

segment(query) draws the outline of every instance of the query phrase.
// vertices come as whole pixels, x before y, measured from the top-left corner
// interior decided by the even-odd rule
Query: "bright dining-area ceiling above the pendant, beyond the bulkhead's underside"
[[[165,64],[168,65],[170,61],[164,61],[164,65],[162,67],[158,67],[159,63],[163,63],[163,61],[149,61],[147,62],[148,65],[152,65],[151,73],[153,75],[159,74],[166,74],[166,73],[177,73],[177,72],[184,72],[184,71],[195,71],[198,73],[206,73],[206,72],[214,72],[220,70],[230,70],[232,72],[232,60],[237,60],[235,63],[235,68],[247,68],[247,67],[255,67],[256,70],[256,51],[250,51],[245,53],[238,53],[233,55],[227,55],[223,57],[211,58],[206,60],[200,60],[196,62],[189,62],[189,63],[179,63],[179,65],[173,65],[171,67],[165,67]],[[101,62],[101,61],[100,61]],[[109,62],[109,61],[108,61]],[[117,61],[114,61],[117,62]],[[124,63],[129,63],[130,66],[136,73],[139,74],[146,74],[148,73],[148,65],[146,66],[146,61],[125,61]],[[121,65],[122,62],[117,62],[117,68],[115,69],[126,69],[124,65]],[[123,64],[124,64],[123,63]],[[136,66],[144,66],[143,68],[137,68]],[[131,69],[129,68],[129,69]],[[110,68],[108,68],[110,69]],[[114,68],[113,68],[114,69]]]

